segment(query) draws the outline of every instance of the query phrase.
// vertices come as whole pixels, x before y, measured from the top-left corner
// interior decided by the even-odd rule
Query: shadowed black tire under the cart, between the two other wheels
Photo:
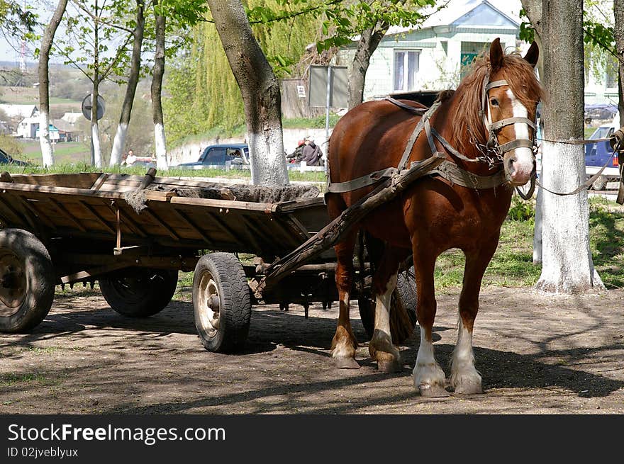
[[[137,275],[141,279],[139,288],[123,286],[122,279]],[[102,296],[113,311],[128,317],[150,317],[164,310],[173,298],[178,271],[133,268],[101,278],[99,282]]]

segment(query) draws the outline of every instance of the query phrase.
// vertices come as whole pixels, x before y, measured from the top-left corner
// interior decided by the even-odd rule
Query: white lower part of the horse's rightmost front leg
[[[472,332],[464,327],[461,316],[457,324],[457,344],[453,350],[450,381],[455,393],[481,393],[481,375],[474,368]]]

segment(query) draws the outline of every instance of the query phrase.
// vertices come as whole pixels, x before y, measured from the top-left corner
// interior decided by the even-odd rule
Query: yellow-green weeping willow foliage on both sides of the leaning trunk
[[[262,9],[277,11],[281,4],[288,12],[301,3],[252,0],[248,7],[256,9],[250,13],[252,17],[261,17]],[[299,15],[266,24],[252,21],[252,30],[274,70],[284,76],[293,63],[299,62],[306,46],[316,40],[318,20]],[[189,36],[193,44],[168,62],[167,68],[163,111],[167,139],[174,146],[189,136],[215,131],[223,136],[245,126],[240,89],[214,24],[199,24]]]

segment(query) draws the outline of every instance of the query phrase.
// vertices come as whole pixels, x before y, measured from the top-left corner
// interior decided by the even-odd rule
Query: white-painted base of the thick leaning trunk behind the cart
[[[271,128],[263,134],[247,132],[249,145],[251,179],[254,185],[288,185],[288,169],[284,163],[284,154],[277,147],[284,146],[281,128]]]

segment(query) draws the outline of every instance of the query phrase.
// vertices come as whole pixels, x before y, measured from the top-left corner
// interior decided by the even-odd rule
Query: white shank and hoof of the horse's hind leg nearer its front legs
[[[386,283],[386,291],[377,295],[375,305],[375,329],[368,345],[368,351],[372,358],[377,359],[377,367],[383,372],[395,372],[400,370],[401,353],[392,343],[390,332],[390,305],[392,293],[396,288],[397,274],[390,276]]]

